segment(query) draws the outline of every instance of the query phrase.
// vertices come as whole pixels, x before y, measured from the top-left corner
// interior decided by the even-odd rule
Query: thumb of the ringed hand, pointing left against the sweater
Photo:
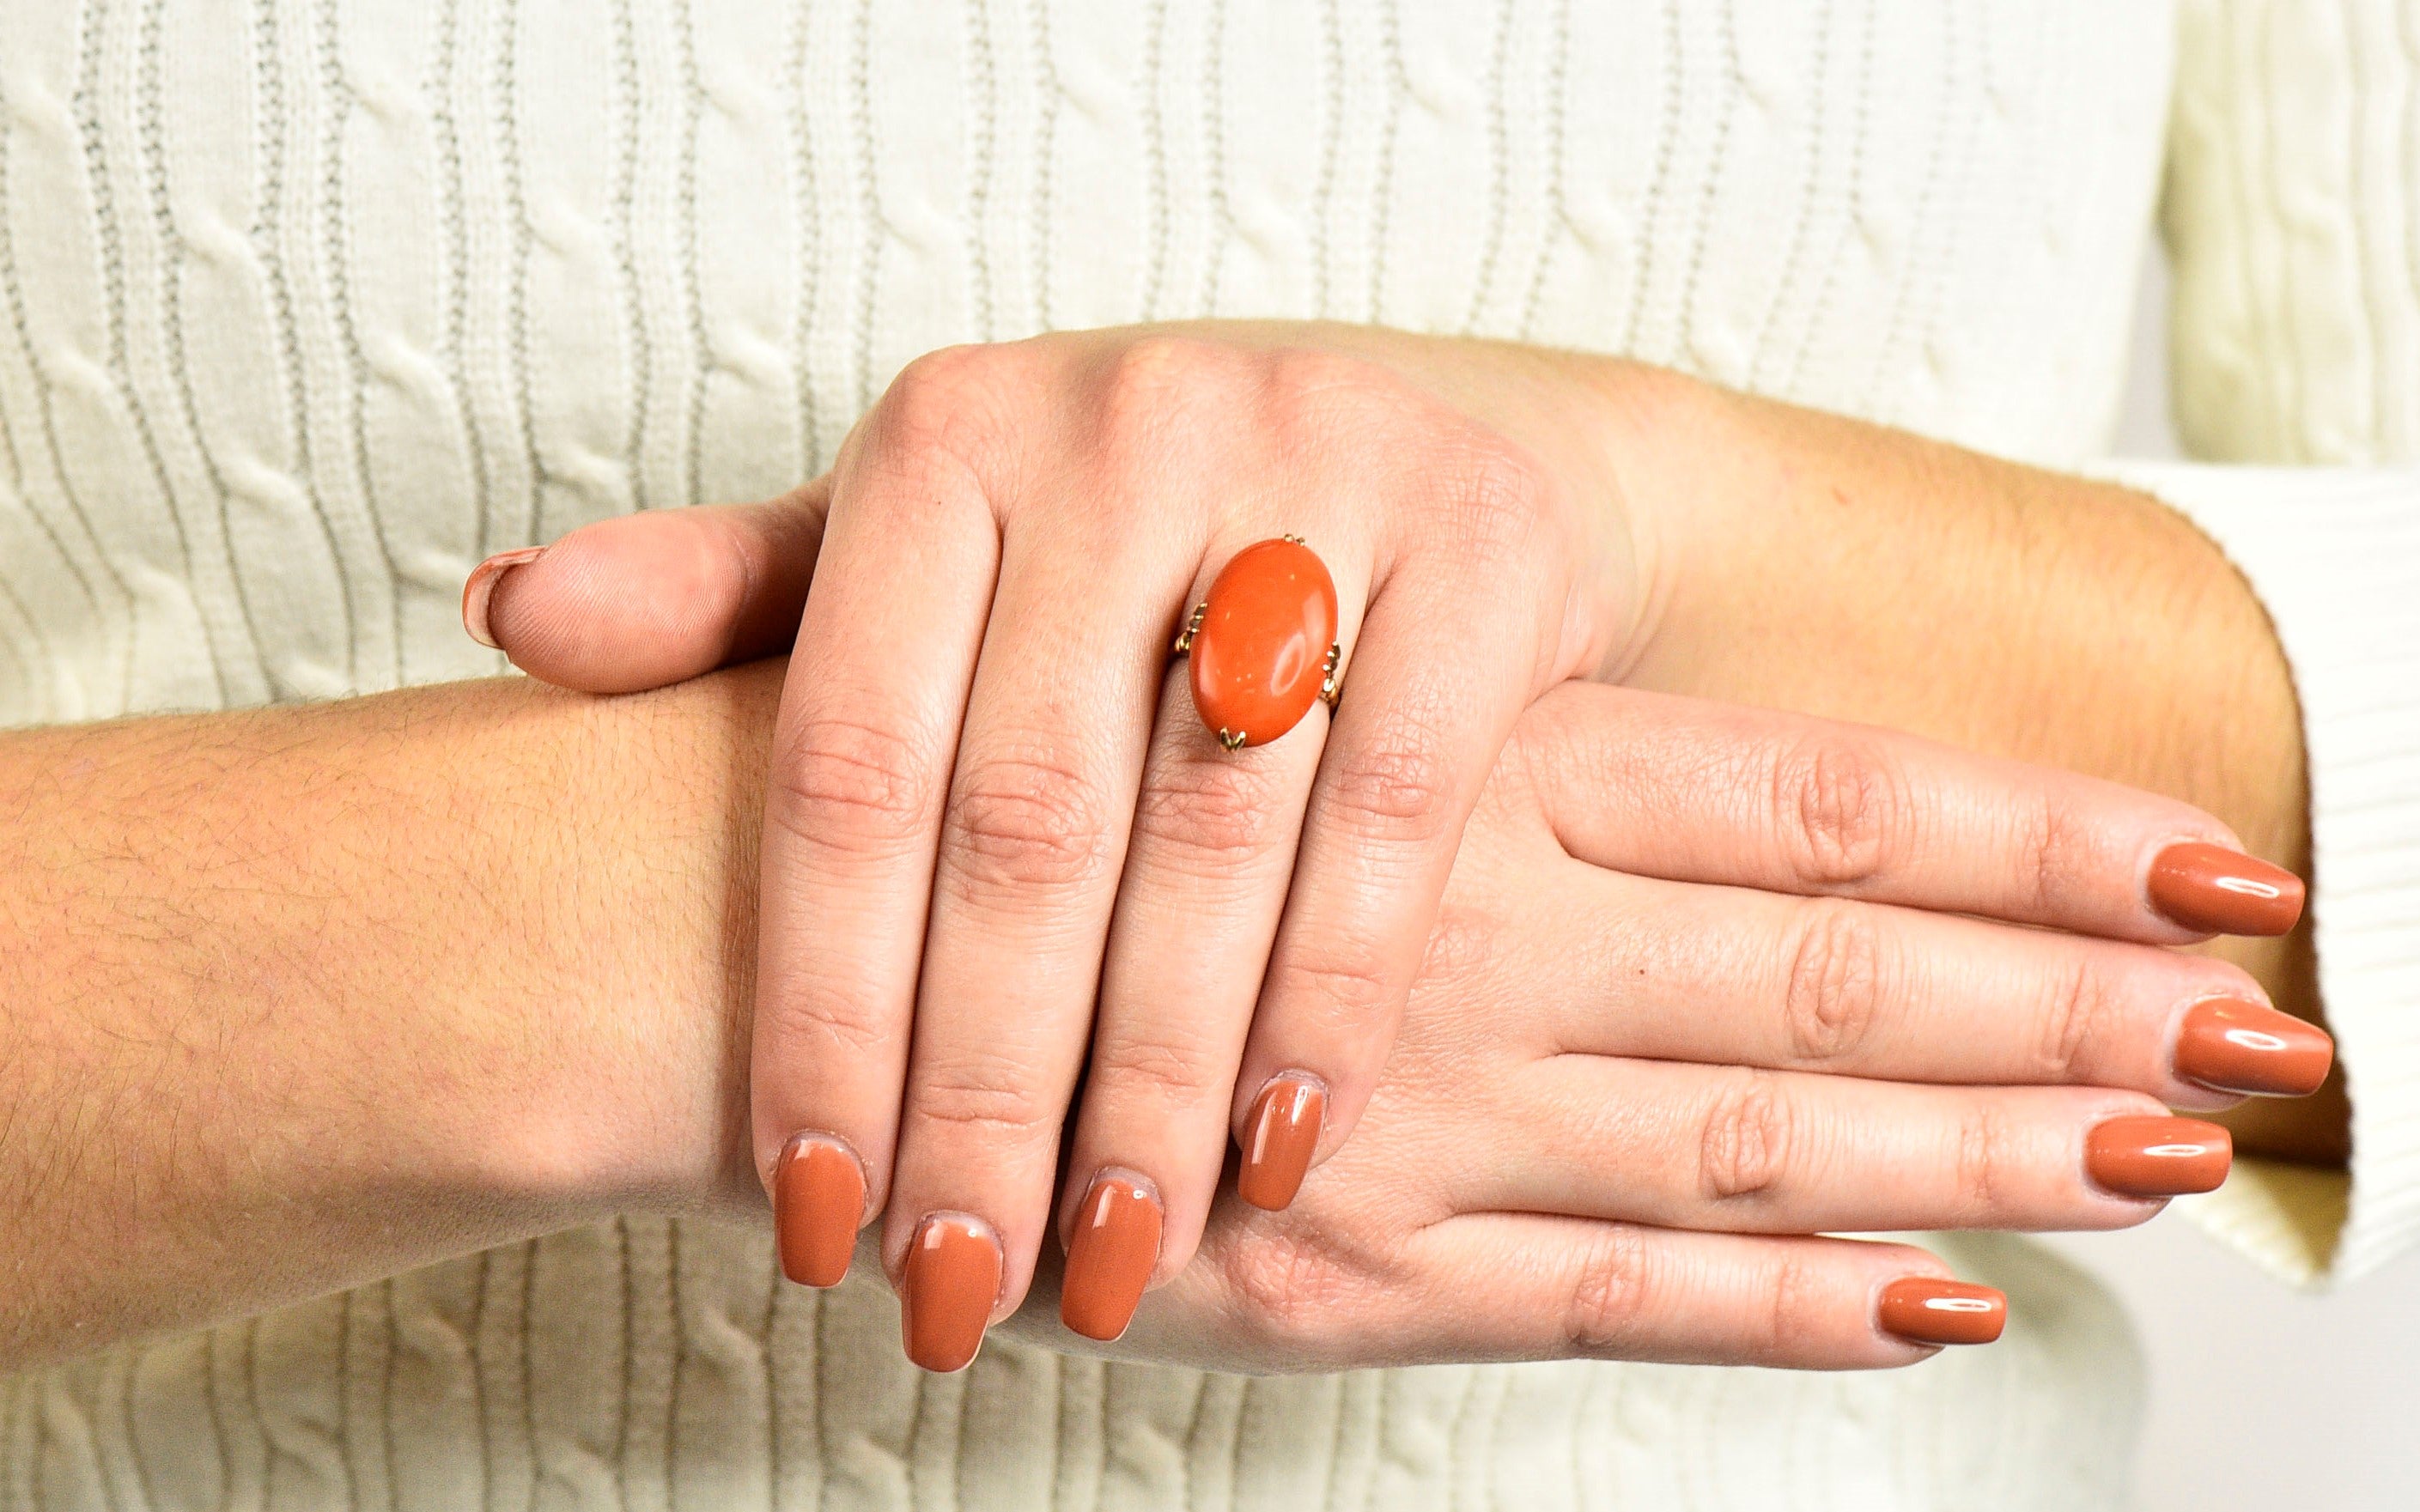
[[[639,692],[772,656],[799,634],[830,477],[770,503],[583,525],[499,552],[462,583],[462,629],[532,677]]]

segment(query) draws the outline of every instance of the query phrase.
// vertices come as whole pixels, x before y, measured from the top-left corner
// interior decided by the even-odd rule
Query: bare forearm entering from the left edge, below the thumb
[[[753,1193],[774,677],[0,738],[0,1367]]]

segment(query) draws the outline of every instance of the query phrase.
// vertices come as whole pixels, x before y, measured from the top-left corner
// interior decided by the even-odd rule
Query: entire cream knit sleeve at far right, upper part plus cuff
[[[2289,1280],[2347,1280],[2420,1239],[2420,2],[2188,0],[2178,22],[2185,445],[2376,464],[2127,474],[2229,552],[2294,668],[2321,999],[2352,1093],[2350,1190],[2251,1168],[2185,1210]]]

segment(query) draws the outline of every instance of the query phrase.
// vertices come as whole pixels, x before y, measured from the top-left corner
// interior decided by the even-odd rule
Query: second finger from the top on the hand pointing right
[[[1522,939],[1554,951],[1537,980],[1566,985],[1556,1050],[2122,1086],[2171,1108],[2309,1093],[2333,1057],[2238,968],[2156,946],[1580,864],[1537,910]]]

